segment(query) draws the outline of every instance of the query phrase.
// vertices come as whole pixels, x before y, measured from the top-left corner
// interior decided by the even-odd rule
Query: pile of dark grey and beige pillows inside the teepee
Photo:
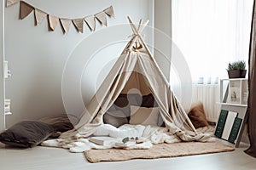
[[[153,94],[119,94],[114,104],[103,116],[103,122],[119,127],[123,124],[161,126],[159,106]]]

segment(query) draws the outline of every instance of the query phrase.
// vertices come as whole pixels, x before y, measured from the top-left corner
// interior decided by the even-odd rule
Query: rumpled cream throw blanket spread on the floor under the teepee
[[[195,138],[201,138],[201,141],[212,141],[213,127],[202,127],[197,129],[198,134]],[[94,136],[110,136],[116,139],[115,142],[120,142],[125,137],[142,137],[145,141],[142,144],[129,144],[127,150],[131,149],[149,149],[152,144],[161,143],[177,143],[181,142],[176,135],[171,135],[166,127],[151,127],[143,125],[125,124],[121,127],[113,127],[109,124],[102,124],[97,127]],[[195,139],[198,140],[198,139]],[[109,149],[115,147],[115,142],[107,145],[98,145],[91,143],[88,139],[49,139],[41,145],[67,148],[71,152],[83,152],[90,149]]]

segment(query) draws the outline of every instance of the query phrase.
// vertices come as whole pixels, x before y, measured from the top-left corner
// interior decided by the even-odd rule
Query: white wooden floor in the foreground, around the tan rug
[[[0,144],[1,170],[85,170],[85,169],[173,169],[173,170],[247,170],[256,169],[256,159],[243,150],[200,156],[183,156],[154,160],[131,160],[90,163],[82,153],[70,153],[65,149],[38,146],[32,149],[15,149]]]

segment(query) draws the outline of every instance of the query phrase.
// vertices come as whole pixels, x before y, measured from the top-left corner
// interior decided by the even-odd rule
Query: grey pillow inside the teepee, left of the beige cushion
[[[113,125],[114,127],[119,127],[123,124],[127,124],[128,120],[122,111],[108,111],[103,116],[103,122]]]

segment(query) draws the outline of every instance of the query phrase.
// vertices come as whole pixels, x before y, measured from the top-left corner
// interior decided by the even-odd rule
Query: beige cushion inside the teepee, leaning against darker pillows
[[[157,126],[159,117],[159,107],[140,107],[131,105],[130,124],[153,125]]]

